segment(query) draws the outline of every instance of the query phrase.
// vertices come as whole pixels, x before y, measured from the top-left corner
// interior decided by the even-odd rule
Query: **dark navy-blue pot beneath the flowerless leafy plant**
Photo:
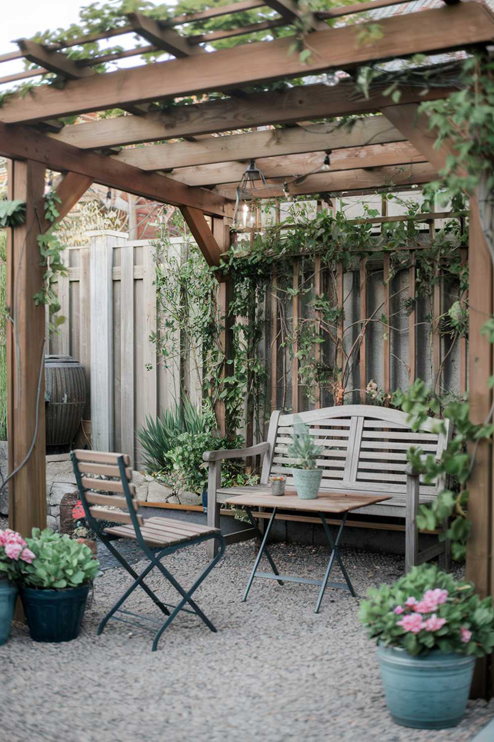
[[[70,642],[79,636],[90,585],[64,590],[19,588],[31,639]]]

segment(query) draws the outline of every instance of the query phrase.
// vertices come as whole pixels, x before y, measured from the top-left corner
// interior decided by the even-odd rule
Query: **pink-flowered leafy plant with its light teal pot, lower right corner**
[[[475,657],[494,647],[491,598],[435,565],[414,567],[393,585],[371,588],[359,617],[377,640],[393,720],[446,729],[464,715]]]

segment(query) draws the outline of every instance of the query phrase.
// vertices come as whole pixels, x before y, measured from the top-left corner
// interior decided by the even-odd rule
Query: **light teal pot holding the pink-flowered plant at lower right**
[[[475,657],[432,651],[412,657],[404,649],[378,647],[378,660],[393,721],[414,729],[447,729],[463,718]]]

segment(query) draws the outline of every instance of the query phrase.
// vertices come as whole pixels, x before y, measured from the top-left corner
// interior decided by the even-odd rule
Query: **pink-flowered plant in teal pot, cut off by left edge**
[[[30,564],[33,559],[34,554],[20,533],[10,528],[0,531],[0,644],[9,638],[21,562]]]

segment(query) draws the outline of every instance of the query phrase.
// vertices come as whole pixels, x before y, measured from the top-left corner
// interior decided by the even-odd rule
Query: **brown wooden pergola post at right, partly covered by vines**
[[[468,249],[469,355],[468,388],[470,418],[484,423],[491,405],[489,377],[493,374],[493,346],[482,326],[493,313],[493,266],[478,214],[478,201],[470,199],[470,240]],[[473,452],[473,447],[472,451]],[[475,452],[475,466],[468,482],[468,518],[472,532],[467,540],[467,580],[475,583],[481,597],[494,592],[493,557],[493,446],[481,439]],[[478,660],[472,686],[473,697],[494,695],[492,656]]]

